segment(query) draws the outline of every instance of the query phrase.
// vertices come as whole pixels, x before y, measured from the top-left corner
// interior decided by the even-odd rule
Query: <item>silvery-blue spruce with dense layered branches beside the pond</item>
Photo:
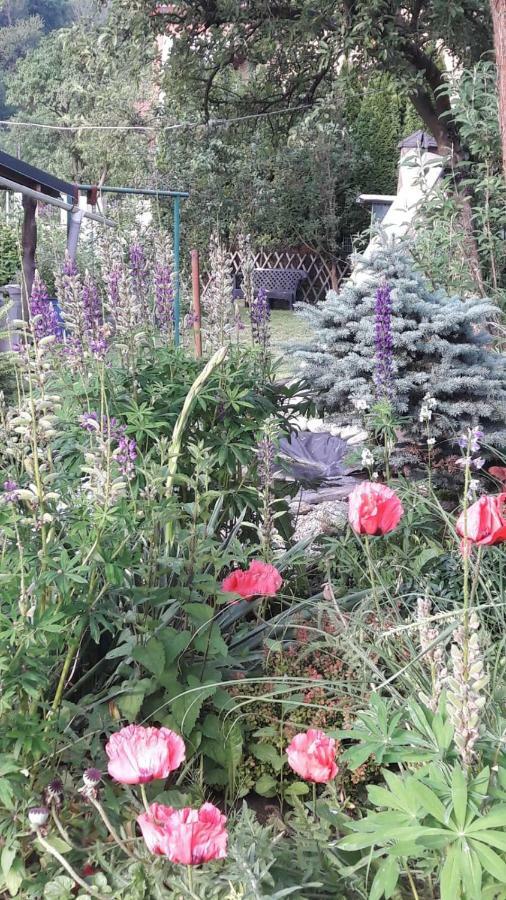
[[[337,294],[298,313],[314,332],[295,353],[322,410],[350,414],[353,401],[378,396],[378,288],[388,286],[392,345],[390,399],[421,429],[423,397],[437,401],[434,433],[450,437],[480,424],[486,440],[506,445],[506,357],[494,352],[489,330],[497,307],[430,289],[402,243],[384,241],[357,257],[353,277]],[[384,292],[380,291],[380,295]]]

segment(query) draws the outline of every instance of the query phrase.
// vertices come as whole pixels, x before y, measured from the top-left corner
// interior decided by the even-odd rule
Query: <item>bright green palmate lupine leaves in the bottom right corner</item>
[[[345,830],[351,833],[338,843],[340,851],[363,852],[361,863],[354,860],[355,870],[361,866],[369,869],[372,864],[375,874],[369,900],[391,897],[398,880],[410,870],[416,871],[416,878],[439,881],[442,900],[488,896],[488,891],[504,883],[506,875],[506,810],[500,800],[491,797],[495,778],[490,768],[471,774],[458,762],[434,753],[430,744],[440,747],[443,734],[445,751],[451,746],[452,731],[444,713],[433,716],[431,724],[428,711],[411,702],[407,709],[410,730],[399,737],[396,729],[406,720],[405,711],[391,718],[386,704],[377,700],[364,715],[364,722],[366,718],[372,732],[383,732],[377,748],[383,745],[385,761],[426,761],[401,774],[384,769],[385,785],[368,788],[373,811],[358,821],[350,819]],[[419,733],[420,723],[425,733]],[[364,740],[360,728],[348,736]],[[417,745],[418,750],[413,751]],[[493,754],[493,748],[489,751]]]

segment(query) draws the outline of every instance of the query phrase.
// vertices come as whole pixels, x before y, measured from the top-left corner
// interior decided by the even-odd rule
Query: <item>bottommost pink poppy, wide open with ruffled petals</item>
[[[212,803],[204,803],[200,809],[173,809],[152,803],[149,812],[137,817],[148,850],[184,866],[225,858],[226,821]]]

